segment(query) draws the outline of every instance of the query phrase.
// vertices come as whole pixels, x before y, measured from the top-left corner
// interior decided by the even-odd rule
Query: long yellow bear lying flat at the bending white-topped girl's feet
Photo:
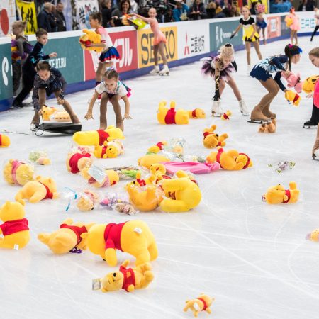
[[[111,140],[123,140],[123,131],[120,128],[115,128],[113,125],[108,126],[106,130],[89,130],[76,132],[73,135],[73,140],[78,145],[100,145]]]

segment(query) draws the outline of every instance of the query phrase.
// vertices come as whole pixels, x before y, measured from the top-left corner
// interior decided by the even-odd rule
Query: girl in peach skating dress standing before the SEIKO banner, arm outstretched
[[[159,30],[159,25],[158,21],[156,19],[157,12],[156,9],[150,8],[148,11],[148,16],[150,18],[145,18],[144,16],[140,16],[139,14],[132,13],[132,16],[136,16],[137,18],[140,18],[142,21],[145,21],[147,23],[150,23],[150,28],[152,29],[154,33],[154,40],[153,40],[153,47],[154,47],[154,69],[150,72],[150,74],[169,74],[169,67],[167,65],[167,59],[166,55],[164,52],[165,49],[165,43],[166,43],[166,38],[165,35],[162,33],[161,30]],[[158,66],[158,52],[162,57],[163,60],[163,68],[161,71],[159,71],[159,66]]]

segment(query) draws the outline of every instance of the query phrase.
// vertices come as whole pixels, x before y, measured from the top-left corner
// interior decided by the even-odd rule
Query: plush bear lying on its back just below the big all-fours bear
[[[133,292],[135,289],[146,288],[154,279],[152,266],[149,262],[135,268],[127,268],[129,260],[125,260],[118,272],[110,272],[101,279],[101,291],[118,291],[124,289]]]

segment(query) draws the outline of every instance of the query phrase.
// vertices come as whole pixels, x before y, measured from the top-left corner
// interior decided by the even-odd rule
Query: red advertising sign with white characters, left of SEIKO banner
[[[114,47],[120,54],[120,60],[116,62],[116,70],[121,72],[138,68],[138,47],[136,31],[122,31],[109,33]],[[99,53],[84,50],[85,80],[94,79]]]

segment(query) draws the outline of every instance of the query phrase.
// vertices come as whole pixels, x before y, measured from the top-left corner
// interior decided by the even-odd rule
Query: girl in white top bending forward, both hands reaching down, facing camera
[[[108,69],[104,73],[104,81],[96,86],[94,94],[89,103],[89,109],[87,110],[86,120],[93,118],[93,106],[101,94],[101,105],[100,105],[100,130],[105,130],[107,128],[106,121],[106,104],[110,101],[113,105],[114,113],[116,114],[116,127],[124,130],[123,120],[125,118],[130,119],[130,102],[128,101],[128,96],[130,96],[128,89],[121,81],[118,80],[118,72],[114,69]],[[122,118],[121,106],[119,100],[123,99],[125,103],[125,114]]]

